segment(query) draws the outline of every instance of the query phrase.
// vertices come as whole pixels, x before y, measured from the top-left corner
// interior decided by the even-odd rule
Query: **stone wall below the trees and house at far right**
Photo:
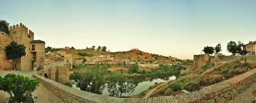
[[[221,56],[223,61],[240,60],[241,62],[256,62],[256,56]]]

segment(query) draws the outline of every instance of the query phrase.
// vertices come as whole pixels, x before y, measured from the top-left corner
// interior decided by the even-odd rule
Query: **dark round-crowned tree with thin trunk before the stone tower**
[[[5,47],[6,57],[8,60],[14,59],[14,68],[15,66],[15,59],[18,59],[22,56],[26,56],[26,47],[24,44],[18,44],[15,41],[12,41],[8,46]]]

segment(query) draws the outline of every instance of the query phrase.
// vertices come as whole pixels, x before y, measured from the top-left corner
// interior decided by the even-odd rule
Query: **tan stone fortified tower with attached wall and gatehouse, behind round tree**
[[[44,69],[44,41],[37,43],[38,40],[34,40],[34,33],[31,30],[28,30],[22,23],[20,23],[20,25],[17,24],[16,26],[10,26],[9,31],[9,35],[0,32],[0,69],[10,69],[10,66],[8,66],[10,65],[10,61],[5,57],[4,48],[12,41],[17,42],[18,44],[24,44],[26,47],[26,56],[15,59],[15,65],[12,61],[12,69],[32,70],[33,63],[36,60],[39,61],[36,65],[39,66],[40,69]],[[35,42],[39,47],[37,51],[31,49],[32,44],[35,46]],[[35,53],[36,55],[34,55]]]

